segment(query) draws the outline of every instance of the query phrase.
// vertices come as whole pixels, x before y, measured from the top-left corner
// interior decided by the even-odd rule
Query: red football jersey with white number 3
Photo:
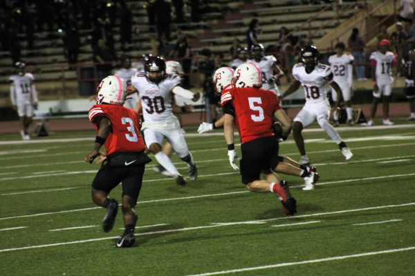
[[[144,140],[140,136],[140,115],[132,109],[112,104],[96,104],[89,110],[89,120],[95,124],[95,118],[105,116],[111,121],[112,132],[105,141],[107,155],[113,152],[139,152],[145,149]]]

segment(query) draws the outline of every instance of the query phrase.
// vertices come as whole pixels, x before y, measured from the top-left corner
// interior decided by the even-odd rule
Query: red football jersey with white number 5
[[[223,90],[221,105],[224,106],[229,101],[235,108],[236,125],[242,144],[274,135],[273,116],[281,106],[273,91],[250,87]]]

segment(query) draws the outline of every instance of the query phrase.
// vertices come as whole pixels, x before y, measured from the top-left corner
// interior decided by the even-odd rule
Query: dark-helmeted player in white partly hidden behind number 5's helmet
[[[250,50],[254,59],[247,62],[255,64],[261,70],[262,88],[279,95],[275,81],[284,75],[284,72],[277,66],[277,59],[274,56],[266,56],[264,46],[261,44],[253,45]],[[277,72],[277,75],[274,75],[274,71]]]

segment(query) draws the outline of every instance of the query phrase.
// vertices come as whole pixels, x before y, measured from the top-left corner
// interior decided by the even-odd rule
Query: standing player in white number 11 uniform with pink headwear
[[[378,102],[383,96],[383,124],[391,126],[394,123],[389,121],[389,98],[392,92],[392,67],[396,66],[396,59],[393,52],[388,52],[389,41],[383,39],[379,43],[379,50],[370,55],[371,75],[374,81],[374,101],[370,108],[370,119],[367,126],[374,125],[374,117],[378,109]]]

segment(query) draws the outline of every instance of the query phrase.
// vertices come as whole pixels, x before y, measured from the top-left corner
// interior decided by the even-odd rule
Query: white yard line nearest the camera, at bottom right
[[[283,267],[283,266],[297,266],[297,265],[302,265],[302,264],[315,264],[315,263],[320,263],[320,262],[337,261],[339,259],[349,259],[349,258],[356,258],[356,257],[366,257],[366,256],[380,255],[380,254],[397,253],[397,252],[403,252],[403,251],[414,250],[414,249],[415,249],[415,246],[412,246],[412,247],[406,247],[406,248],[397,248],[397,249],[372,251],[372,252],[353,254],[353,255],[344,255],[344,256],[338,256],[338,257],[327,257],[327,258],[322,258],[322,259],[310,259],[308,261],[302,261],[302,262],[271,264],[271,265],[268,265],[268,266],[255,266],[255,267],[250,267],[250,268],[222,270],[222,271],[217,271],[217,272],[192,274],[192,275],[187,275],[187,276],[220,275],[220,274],[238,273],[238,272],[243,272],[243,271],[252,271],[252,270],[260,270],[260,269],[268,269],[268,268],[278,268],[278,267]]]

